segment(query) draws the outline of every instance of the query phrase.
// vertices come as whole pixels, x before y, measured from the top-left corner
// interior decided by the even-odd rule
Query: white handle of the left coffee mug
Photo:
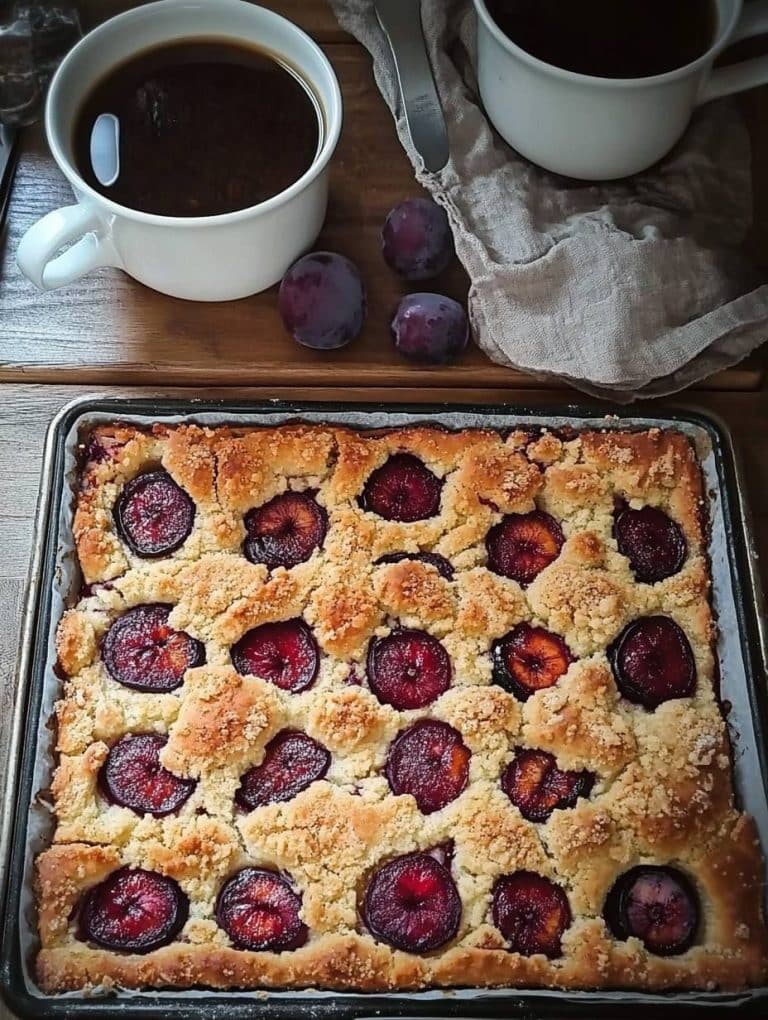
[[[103,225],[88,205],[67,205],[49,212],[21,238],[16,250],[19,269],[41,291],[53,291],[91,269],[105,265],[122,268],[114,245],[101,233]],[[70,242],[74,242],[70,248],[56,255]]]

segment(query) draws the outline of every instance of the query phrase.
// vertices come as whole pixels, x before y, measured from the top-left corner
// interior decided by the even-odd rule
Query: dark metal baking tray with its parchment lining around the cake
[[[23,613],[12,723],[9,767],[0,834],[0,889],[3,891],[3,940],[0,990],[21,1017],[105,1018],[121,1020],[353,1020],[353,1018],[684,1018],[768,1016],[768,987],[739,993],[636,991],[554,991],[546,989],[449,989],[419,992],[343,993],[328,991],[123,991],[112,996],[71,992],[43,996],[34,985],[28,963],[35,939],[31,865],[42,849],[35,819],[41,811],[35,795],[46,785],[52,767],[47,726],[55,662],[52,631],[67,596],[75,588],[70,523],[74,447],[80,429],[96,421],[197,421],[276,424],[289,420],[327,421],[357,427],[407,423],[443,427],[484,425],[549,427],[677,428],[697,447],[711,497],[710,524],[713,604],[719,621],[718,653],[722,698],[730,703],[728,725],[733,744],[737,794],[754,815],[768,850],[768,746],[765,734],[768,631],[757,553],[739,469],[727,428],[712,417],[680,412],[617,417],[605,408],[567,405],[560,409],[527,406],[412,405],[388,410],[378,404],[260,404],[169,399],[86,397],[63,408],[46,439],[39,512]],[[46,705],[46,695],[47,702]],[[32,806],[32,807],[31,807]]]

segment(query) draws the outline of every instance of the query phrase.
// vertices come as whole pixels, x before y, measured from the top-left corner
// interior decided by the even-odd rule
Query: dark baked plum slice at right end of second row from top
[[[696,693],[696,660],[683,630],[668,616],[643,616],[609,650],[619,691],[653,710]]]

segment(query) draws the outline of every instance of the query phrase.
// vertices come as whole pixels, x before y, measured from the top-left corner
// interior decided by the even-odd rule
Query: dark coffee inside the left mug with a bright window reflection
[[[100,183],[91,158],[104,113],[119,122],[111,185]],[[74,157],[83,177],[120,205],[211,216],[285,191],[311,166],[319,138],[314,100],[272,56],[225,41],[181,41],[145,50],[95,86],[75,121]]]

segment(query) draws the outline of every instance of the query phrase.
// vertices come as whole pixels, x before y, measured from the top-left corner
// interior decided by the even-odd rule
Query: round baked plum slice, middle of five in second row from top
[[[451,685],[451,659],[423,630],[393,630],[368,648],[368,684],[383,705],[400,712],[431,705]]]

